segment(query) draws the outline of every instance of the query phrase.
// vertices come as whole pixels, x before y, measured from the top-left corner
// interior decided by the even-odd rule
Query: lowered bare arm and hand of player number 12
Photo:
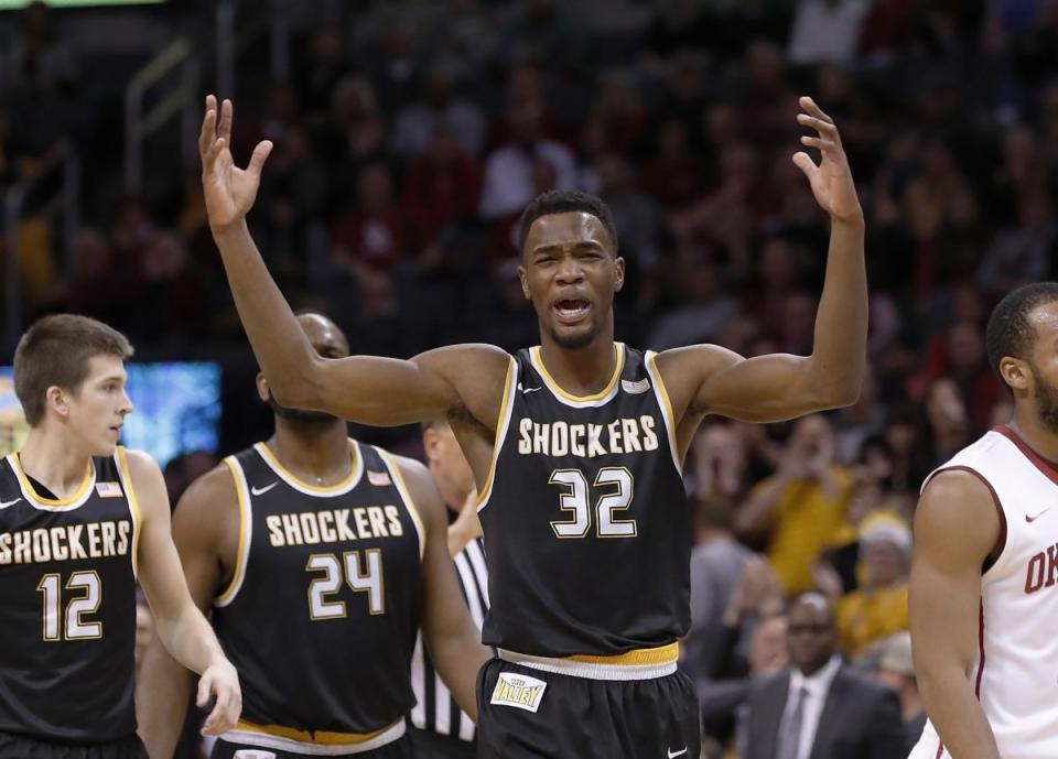
[[[203,734],[227,733],[242,711],[238,674],[187,589],[173,545],[169,496],[158,464],[136,451],[128,452],[128,457],[142,518],[137,551],[139,577],[154,615],[158,637],[176,661],[201,675],[196,703],[204,706],[210,696],[216,696]]]

